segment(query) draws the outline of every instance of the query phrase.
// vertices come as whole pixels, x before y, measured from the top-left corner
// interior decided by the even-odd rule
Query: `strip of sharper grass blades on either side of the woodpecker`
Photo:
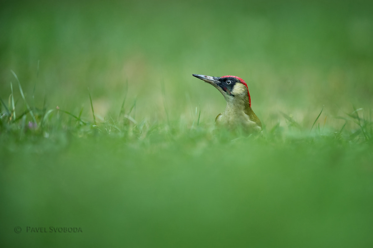
[[[14,76],[18,80],[16,74],[14,74]],[[206,135],[206,137],[214,137],[218,140],[228,135],[229,139],[233,140],[238,135],[237,133],[221,129],[214,130],[212,121],[200,125],[201,109],[197,113],[197,108],[194,118],[186,122],[184,120],[173,120],[170,122],[168,117],[163,121],[149,119],[135,120],[134,110],[136,108],[136,100],[126,108],[126,97],[123,100],[122,107],[117,117],[113,117],[112,115],[108,117],[96,116],[89,92],[87,92],[87,95],[90,99],[92,119],[82,116],[83,108],[79,113],[63,110],[58,106],[50,109],[46,106],[46,101],[44,101],[44,106],[39,108],[29,106],[24,97],[21,84],[19,82],[18,84],[22,100],[25,104],[25,110],[21,113],[16,113],[13,97],[14,93],[11,84],[9,104],[6,104],[4,100],[1,99],[1,133],[3,136],[12,134],[18,136],[20,139],[25,138],[27,135],[44,136],[44,138],[48,138],[49,135],[54,132],[61,132],[65,133],[65,135],[76,135],[78,137],[110,135],[121,138],[125,137],[126,139],[132,137],[145,140],[154,135],[169,136],[169,138],[172,137],[172,139],[181,137],[182,139],[190,135],[203,134]],[[167,113],[166,103],[164,103],[164,108],[164,111]],[[308,130],[309,127],[302,126],[294,120],[292,115],[282,113],[286,126],[280,125],[280,119],[278,123],[273,126],[266,126],[264,124],[263,132],[261,135],[258,135],[257,139],[284,144],[286,144],[287,141],[294,141],[294,139],[297,139],[298,142],[328,139],[334,140],[336,144],[338,144],[338,142],[372,142],[372,113],[370,110],[366,111],[362,108],[354,109],[353,112],[346,113],[345,117],[330,117],[345,120],[344,125],[337,129],[325,126],[325,121],[320,129],[320,121],[318,120],[322,112],[323,109],[320,111],[319,115],[316,116],[310,130]],[[348,129],[345,128],[347,123],[349,123]],[[314,126],[316,126],[316,128],[314,128]],[[240,135],[242,135],[242,133],[240,133]]]

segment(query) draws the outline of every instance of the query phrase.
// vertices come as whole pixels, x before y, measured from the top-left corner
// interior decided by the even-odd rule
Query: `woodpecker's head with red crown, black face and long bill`
[[[250,93],[247,84],[242,78],[236,76],[211,77],[198,74],[192,75],[209,84],[212,84],[223,94],[227,102],[234,100],[237,97],[241,99],[248,97],[248,103],[251,107]]]

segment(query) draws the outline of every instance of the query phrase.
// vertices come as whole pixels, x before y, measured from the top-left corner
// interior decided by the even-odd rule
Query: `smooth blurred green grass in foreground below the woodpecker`
[[[144,143],[96,137],[51,152],[3,147],[3,246],[372,246],[371,146],[206,135]],[[31,150],[38,145],[45,150]]]

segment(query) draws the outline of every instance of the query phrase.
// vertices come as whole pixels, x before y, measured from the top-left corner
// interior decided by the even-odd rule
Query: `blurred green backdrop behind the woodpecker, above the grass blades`
[[[263,123],[282,111],[311,125],[323,105],[329,116],[372,106],[372,13],[371,1],[8,1],[0,94],[13,70],[35,106],[46,94],[89,115],[89,87],[96,113],[115,116],[128,81],[137,119],[164,119],[164,99],[176,120],[201,104],[213,122],[225,101],[191,74],[237,75]]]

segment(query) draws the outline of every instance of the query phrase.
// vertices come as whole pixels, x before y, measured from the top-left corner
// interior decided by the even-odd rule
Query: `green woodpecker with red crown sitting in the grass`
[[[247,132],[261,131],[261,122],[251,109],[250,93],[242,78],[192,75],[213,85],[223,94],[227,106],[223,113],[216,116],[217,125],[227,126],[229,129],[243,128]]]

